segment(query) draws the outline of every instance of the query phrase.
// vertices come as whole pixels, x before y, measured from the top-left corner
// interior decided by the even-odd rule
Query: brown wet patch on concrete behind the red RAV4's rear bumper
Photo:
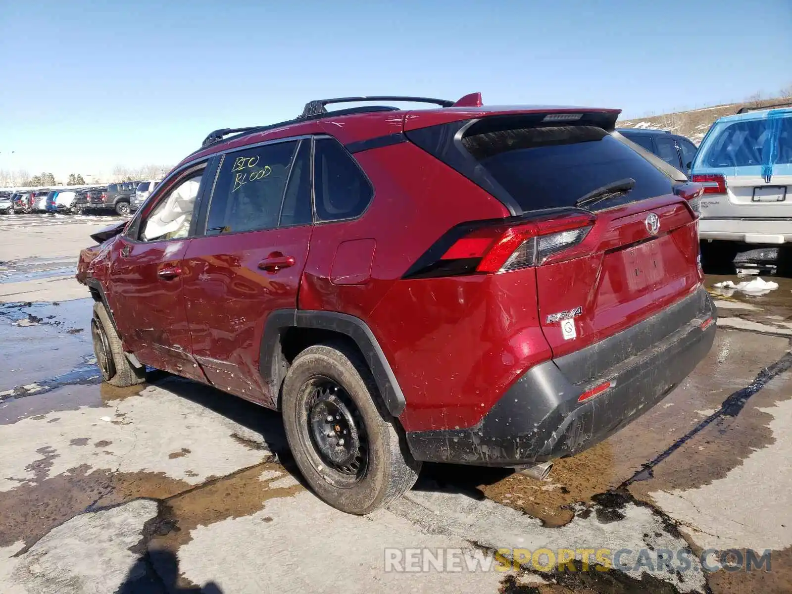
[[[478,490],[545,526],[560,527],[573,519],[577,502],[624,483],[649,500],[649,491],[721,478],[772,440],[766,426],[771,417],[757,408],[788,398],[779,388],[786,375],[777,376],[790,363],[788,348],[784,338],[719,331],[691,377],[626,428],[581,454],[554,460],[545,481],[510,474]]]

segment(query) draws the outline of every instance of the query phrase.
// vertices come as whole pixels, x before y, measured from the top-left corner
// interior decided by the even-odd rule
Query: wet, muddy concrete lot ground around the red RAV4
[[[694,374],[545,481],[427,465],[405,497],[355,517],[305,488],[276,413],[158,372],[100,383],[73,275],[113,220],[0,217],[2,594],[792,592],[789,279],[718,293],[716,344]],[[386,571],[420,547],[506,549],[517,570]],[[578,560],[558,571],[547,552],[531,560],[538,549]],[[624,566],[602,571],[601,550],[625,550]],[[687,563],[658,562],[665,550]],[[718,569],[728,550],[733,565],[771,554]]]

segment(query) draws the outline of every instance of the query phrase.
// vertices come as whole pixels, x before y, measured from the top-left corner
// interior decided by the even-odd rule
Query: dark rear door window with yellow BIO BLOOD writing
[[[223,158],[209,204],[208,235],[278,227],[280,207],[299,143],[268,144]]]

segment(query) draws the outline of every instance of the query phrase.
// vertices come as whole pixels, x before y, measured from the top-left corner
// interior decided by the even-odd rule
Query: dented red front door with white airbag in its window
[[[205,381],[192,359],[182,295],[182,260],[203,167],[169,184],[113,244],[108,300],[124,348],[164,371]]]

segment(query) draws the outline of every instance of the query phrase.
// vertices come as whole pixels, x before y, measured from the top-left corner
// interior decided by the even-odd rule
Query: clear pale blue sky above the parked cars
[[[790,0],[0,0],[0,169],[174,164],[323,97],[739,101],[792,83],[790,30]]]

